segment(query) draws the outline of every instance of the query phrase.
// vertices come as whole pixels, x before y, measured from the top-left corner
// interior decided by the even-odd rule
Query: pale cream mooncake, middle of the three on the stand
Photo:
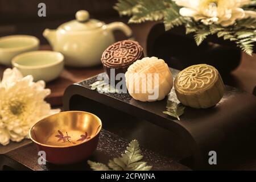
[[[139,101],[163,100],[173,86],[168,65],[157,57],[135,61],[125,73],[126,86],[131,97]]]

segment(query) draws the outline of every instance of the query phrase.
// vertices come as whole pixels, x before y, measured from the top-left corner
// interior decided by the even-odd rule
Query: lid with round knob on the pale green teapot
[[[85,31],[93,30],[103,26],[105,23],[97,19],[89,19],[89,13],[85,10],[77,11],[76,19],[70,22],[63,23],[59,28],[65,31]]]

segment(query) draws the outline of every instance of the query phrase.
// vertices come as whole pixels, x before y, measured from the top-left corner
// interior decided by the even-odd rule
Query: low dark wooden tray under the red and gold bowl
[[[102,130],[97,150],[89,160],[107,164],[109,159],[120,156],[125,151],[128,142],[109,131]],[[158,153],[146,150],[141,147],[144,161],[152,166],[152,170],[189,170],[188,167],[176,162],[173,158],[159,155]],[[0,155],[0,171],[2,170],[90,170],[86,161],[59,166],[47,163],[38,164],[38,155],[36,146],[28,143],[22,147],[16,148]]]

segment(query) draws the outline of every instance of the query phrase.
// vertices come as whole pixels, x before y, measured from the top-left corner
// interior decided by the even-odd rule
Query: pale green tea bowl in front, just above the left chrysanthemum
[[[57,78],[64,67],[64,56],[55,51],[32,51],[15,56],[11,60],[13,67],[23,76],[32,75],[34,81],[46,82]]]

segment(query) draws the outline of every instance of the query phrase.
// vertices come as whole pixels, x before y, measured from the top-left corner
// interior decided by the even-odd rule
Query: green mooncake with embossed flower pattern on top
[[[179,101],[194,108],[216,105],[224,94],[224,84],[217,69],[207,64],[197,64],[183,69],[174,81]]]

